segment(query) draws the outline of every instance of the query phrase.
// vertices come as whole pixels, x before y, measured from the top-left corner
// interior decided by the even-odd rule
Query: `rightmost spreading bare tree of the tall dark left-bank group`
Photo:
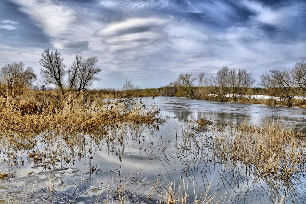
[[[89,57],[83,63],[80,64],[74,87],[76,90],[84,90],[86,87],[91,86],[92,82],[99,81],[100,79],[95,75],[102,71],[101,68],[97,68],[98,58]]]

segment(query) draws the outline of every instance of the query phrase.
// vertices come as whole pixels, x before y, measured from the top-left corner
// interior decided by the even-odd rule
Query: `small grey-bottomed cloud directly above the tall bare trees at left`
[[[88,50],[89,41],[69,41],[61,39],[52,39],[51,43],[56,49],[68,49],[72,50],[72,53],[79,52],[82,53],[85,50]]]

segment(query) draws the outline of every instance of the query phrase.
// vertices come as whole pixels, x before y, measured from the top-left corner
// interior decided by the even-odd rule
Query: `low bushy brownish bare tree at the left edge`
[[[33,81],[37,80],[33,68],[25,68],[23,62],[6,64],[1,68],[0,73],[2,82],[2,90],[0,90],[0,92],[4,96],[5,91],[9,95],[21,93],[25,87],[31,87]]]

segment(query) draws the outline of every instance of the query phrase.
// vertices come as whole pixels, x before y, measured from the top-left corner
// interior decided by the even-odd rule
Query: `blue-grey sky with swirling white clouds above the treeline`
[[[306,61],[305,11],[302,0],[0,0],[0,66],[23,61],[39,76],[49,48],[67,68],[76,52],[98,57],[95,88],[158,88],[225,65],[258,83]]]

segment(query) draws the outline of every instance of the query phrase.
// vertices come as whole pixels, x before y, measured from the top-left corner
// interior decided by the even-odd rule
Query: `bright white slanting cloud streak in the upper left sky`
[[[65,34],[76,21],[73,9],[51,0],[9,0],[20,6],[34,23],[52,37]]]

